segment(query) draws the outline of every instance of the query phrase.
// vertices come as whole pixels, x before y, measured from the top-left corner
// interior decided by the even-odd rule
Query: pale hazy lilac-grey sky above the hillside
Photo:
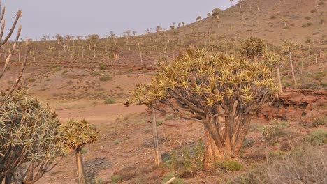
[[[6,29],[21,9],[22,37],[29,38],[57,33],[105,36],[109,31],[119,34],[128,29],[140,34],[157,25],[189,24],[214,8],[231,6],[228,0],[2,0],[2,4],[6,6]]]

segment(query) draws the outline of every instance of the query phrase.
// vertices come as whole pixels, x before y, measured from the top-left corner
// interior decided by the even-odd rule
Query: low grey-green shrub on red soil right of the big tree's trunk
[[[277,138],[284,134],[284,128],[288,125],[285,121],[272,121],[269,125],[261,129],[262,135],[266,140]]]

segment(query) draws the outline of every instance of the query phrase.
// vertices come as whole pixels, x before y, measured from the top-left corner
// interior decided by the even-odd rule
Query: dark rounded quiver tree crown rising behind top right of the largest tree
[[[240,53],[254,59],[254,63],[258,63],[258,58],[263,55],[265,48],[266,45],[263,40],[251,36],[242,41]]]

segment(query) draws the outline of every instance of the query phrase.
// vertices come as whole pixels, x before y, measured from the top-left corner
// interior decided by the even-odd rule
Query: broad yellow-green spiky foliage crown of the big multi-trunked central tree
[[[245,109],[255,110],[276,89],[272,70],[262,63],[189,49],[175,61],[159,66],[150,84],[138,85],[133,100],[153,105],[177,99],[193,113],[194,108],[224,106],[238,100]]]

